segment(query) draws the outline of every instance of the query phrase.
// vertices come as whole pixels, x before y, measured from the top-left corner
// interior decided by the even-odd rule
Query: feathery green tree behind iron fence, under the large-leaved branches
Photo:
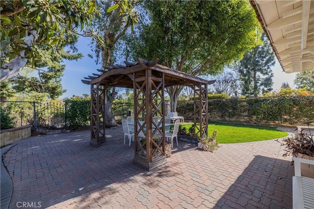
[[[74,44],[77,42],[78,36],[67,34],[66,37],[66,43],[59,47],[37,49],[39,56],[35,58],[34,66],[26,64],[15,76],[2,81],[1,95],[2,92],[4,94],[9,92],[9,89],[11,89],[11,93],[5,94],[6,97],[16,95],[32,98],[35,101],[45,100],[47,97],[55,99],[62,95],[65,92],[61,86],[65,65],[61,62],[64,59],[77,60],[82,57],[81,53],[72,54],[70,51],[64,50],[68,46],[69,49],[76,52]],[[10,47],[4,46],[4,48],[9,49]]]

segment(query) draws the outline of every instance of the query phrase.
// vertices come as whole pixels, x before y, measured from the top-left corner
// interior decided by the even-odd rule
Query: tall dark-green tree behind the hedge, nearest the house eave
[[[275,55],[264,33],[262,40],[262,45],[246,52],[243,59],[235,65],[235,70],[239,74],[242,95],[257,97],[261,93],[272,90],[274,75],[271,66],[275,65]]]

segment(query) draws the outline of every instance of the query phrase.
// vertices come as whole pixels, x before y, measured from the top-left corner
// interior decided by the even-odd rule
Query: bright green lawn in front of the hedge
[[[181,124],[181,126],[188,130],[192,123]],[[217,130],[216,139],[223,144],[262,141],[288,136],[287,132],[278,131],[276,130],[277,127],[269,126],[210,122],[208,127],[209,136],[211,136],[212,131]]]

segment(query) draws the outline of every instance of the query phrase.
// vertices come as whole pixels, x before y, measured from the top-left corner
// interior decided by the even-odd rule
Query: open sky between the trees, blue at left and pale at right
[[[81,82],[84,77],[91,76],[92,73],[99,73],[97,69],[101,69],[101,65],[96,65],[95,60],[88,57],[88,53],[92,53],[88,44],[90,38],[79,37],[78,39],[78,52],[83,54],[83,58],[78,61],[65,60],[66,70],[64,71],[62,78],[62,87],[67,91],[61,96],[61,98],[70,98],[72,95],[82,96],[83,94],[90,94],[90,86]],[[287,74],[282,72],[282,68],[276,58],[276,64],[272,67],[273,77],[273,89],[280,89],[283,82],[288,82],[290,87],[293,87],[293,80],[295,73]]]

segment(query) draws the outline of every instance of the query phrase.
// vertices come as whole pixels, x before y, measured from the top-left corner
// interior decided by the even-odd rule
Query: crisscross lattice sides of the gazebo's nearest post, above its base
[[[145,75],[148,80],[144,81],[142,76],[135,74],[133,77],[136,86],[134,94],[134,120],[137,124],[135,153],[152,161],[153,157],[164,155],[165,150],[164,83],[163,78],[152,77],[150,70],[147,70]],[[156,117],[159,120],[153,120]]]

